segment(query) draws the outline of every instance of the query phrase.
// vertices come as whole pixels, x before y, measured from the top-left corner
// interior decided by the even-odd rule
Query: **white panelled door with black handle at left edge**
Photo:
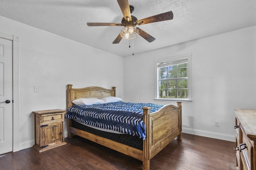
[[[3,38],[0,38],[0,102],[0,154],[4,154],[12,151],[12,41]]]

